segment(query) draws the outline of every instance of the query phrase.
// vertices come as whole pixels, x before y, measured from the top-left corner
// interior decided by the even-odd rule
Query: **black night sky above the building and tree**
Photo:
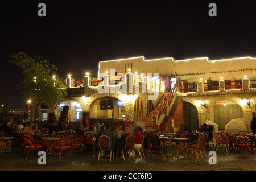
[[[46,4],[46,17],[38,4]],[[210,17],[209,3],[217,17]],[[21,70],[7,63],[23,51],[47,57],[60,77],[97,75],[98,61],[256,57],[256,1],[1,1],[0,96],[22,107]]]

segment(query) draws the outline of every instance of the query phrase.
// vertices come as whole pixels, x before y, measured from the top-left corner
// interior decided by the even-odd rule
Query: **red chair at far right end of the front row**
[[[234,137],[234,153],[235,154],[236,154],[236,151],[239,151],[239,152],[245,151],[246,154],[247,152],[250,151],[251,154],[253,154],[253,141],[251,139],[248,139],[243,135],[233,135],[233,137]]]

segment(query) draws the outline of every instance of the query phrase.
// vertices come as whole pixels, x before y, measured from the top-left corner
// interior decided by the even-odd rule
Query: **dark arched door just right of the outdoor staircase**
[[[196,107],[183,101],[183,124],[188,125],[191,129],[198,129],[198,111]]]

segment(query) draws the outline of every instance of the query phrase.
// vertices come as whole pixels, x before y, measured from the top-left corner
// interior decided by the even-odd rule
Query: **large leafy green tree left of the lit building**
[[[17,65],[23,70],[24,80],[18,85],[18,90],[24,98],[32,98],[38,103],[51,107],[54,118],[57,103],[65,98],[66,90],[57,76],[57,68],[49,61],[39,56],[28,56],[24,52],[10,55],[10,64]],[[53,78],[54,76],[54,78]]]

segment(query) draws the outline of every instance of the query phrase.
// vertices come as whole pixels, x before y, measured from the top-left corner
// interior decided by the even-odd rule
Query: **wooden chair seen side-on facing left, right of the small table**
[[[200,133],[196,144],[188,144],[185,159],[187,159],[188,151],[190,151],[191,157],[193,155],[193,152],[195,151],[197,160],[200,160],[198,153],[200,153],[202,159],[204,159],[201,148],[203,148],[204,143],[206,141],[205,136],[206,135],[204,133]]]

